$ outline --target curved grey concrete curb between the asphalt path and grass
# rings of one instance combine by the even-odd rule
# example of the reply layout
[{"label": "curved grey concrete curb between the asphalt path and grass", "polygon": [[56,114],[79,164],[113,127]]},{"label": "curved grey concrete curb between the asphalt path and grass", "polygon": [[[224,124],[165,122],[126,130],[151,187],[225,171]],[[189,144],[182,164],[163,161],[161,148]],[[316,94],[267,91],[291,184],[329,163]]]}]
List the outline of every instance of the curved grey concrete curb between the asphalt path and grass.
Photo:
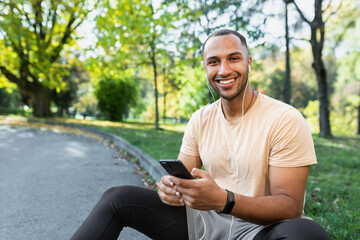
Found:
[{"label": "curved grey concrete curb between the asphalt path and grass", "polygon": [[122,139],[121,137],[108,133],[102,130],[93,129],[89,127],[83,127],[83,126],[76,126],[74,124],[68,124],[68,123],[59,123],[59,122],[48,122],[48,121],[37,121],[37,120],[28,120],[29,122],[38,122],[38,123],[44,123],[49,125],[60,125],[65,127],[71,127],[80,129],[83,131],[94,133],[100,137],[103,137],[109,141],[111,141],[112,144],[118,146],[119,148],[123,149],[125,152],[130,153],[132,156],[136,157],[139,160],[139,164],[141,167],[143,167],[149,175],[156,181],[160,181],[162,176],[166,175],[166,171],[161,167],[159,162],[149,156],[147,153],[143,152],[141,149],[131,145],[128,141],[125,139]]}]

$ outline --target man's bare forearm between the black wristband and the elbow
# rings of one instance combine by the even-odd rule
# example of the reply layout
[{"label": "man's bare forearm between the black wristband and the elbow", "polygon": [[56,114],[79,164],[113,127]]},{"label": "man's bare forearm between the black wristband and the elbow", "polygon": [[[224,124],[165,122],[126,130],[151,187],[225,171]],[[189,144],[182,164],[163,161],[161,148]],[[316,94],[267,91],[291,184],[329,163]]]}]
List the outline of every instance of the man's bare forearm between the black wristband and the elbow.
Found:
[{"label": "man's bare forearm between the black wristband and the elbow", "polygon": [[231,215],[259,225],[298,218],[301,214],[302,203],[286,195],[247,197],[235,194],[231,211]]}]

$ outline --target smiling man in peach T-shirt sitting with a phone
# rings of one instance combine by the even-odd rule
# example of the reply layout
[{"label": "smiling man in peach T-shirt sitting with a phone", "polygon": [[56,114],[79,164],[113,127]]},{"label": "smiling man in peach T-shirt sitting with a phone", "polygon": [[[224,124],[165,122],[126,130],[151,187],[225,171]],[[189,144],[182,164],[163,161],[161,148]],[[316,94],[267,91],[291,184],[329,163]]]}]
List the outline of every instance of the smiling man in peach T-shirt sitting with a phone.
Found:
[{"label": "smiling man in peach T-shirt sitting with a phone", "polygon": [[301,218],[311,133],[296,109],[250,87],[251,63],[239,33],[209,36],[203,64],[220,100],[193,114],[178,156],[197,179],[164,176],[158,194],[112,188],[73,239],[117,239],[124,226],[153,239],[329,239]]}]

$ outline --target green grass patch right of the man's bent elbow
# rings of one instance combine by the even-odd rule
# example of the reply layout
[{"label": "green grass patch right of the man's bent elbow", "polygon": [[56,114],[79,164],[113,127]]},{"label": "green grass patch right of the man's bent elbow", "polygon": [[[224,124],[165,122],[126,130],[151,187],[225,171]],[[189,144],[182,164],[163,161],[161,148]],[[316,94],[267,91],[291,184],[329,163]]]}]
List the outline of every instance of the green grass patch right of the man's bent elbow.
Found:
[{"label": "green grass patch right of the man's bent elbow", "polygon": [[314,141],[318,164],[310,170],[305,213],[331,239],[360,239],[360,138]]}]

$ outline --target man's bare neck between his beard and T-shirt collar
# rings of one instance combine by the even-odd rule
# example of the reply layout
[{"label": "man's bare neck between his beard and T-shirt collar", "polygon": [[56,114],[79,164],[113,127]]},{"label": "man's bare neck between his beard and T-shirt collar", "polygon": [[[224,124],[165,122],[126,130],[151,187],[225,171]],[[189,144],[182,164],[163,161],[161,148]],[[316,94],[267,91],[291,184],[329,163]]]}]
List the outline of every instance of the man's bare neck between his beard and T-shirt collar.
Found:
[{"label": "man's bare neck between his beard and T-shirt collar", "polygon": [[[248,86],[245,89],[245,91],[244,91],[245,94],[242,93],[238,97],[233,98],[231,100],[227,100],[224,98],[221,99],[222,111],[224,113],[225,119],[228,120],[229,122],[241,118],[254,105],[257,98],[256,92],[250,86]],[[244,95],[245,95],[245,100],[244,100]],[[243,106],[243,100],[244,100],[244,106]]]}]

